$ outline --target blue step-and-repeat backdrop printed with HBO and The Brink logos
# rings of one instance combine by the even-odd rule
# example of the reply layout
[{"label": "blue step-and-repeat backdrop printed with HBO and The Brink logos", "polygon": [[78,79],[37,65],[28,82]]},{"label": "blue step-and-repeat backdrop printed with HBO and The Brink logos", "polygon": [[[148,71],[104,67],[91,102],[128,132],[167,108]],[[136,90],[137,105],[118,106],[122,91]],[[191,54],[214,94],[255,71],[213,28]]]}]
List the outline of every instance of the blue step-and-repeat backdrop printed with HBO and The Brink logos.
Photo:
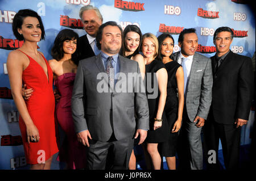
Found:
[{"label": "blue step-and-repeat backdrop printed with HBO and The Brink logos", "polygon": [[[79,36],[85,35],[79,18],[80,7],[93,5],[100,9],[104,22],[114,20],[122,28],[136,24],[142,33],[159,36],[170,33],[175,40],[184,28],[196,28],[199,37],[197,52],[211,57],[216,52],[214,31],[221,26],[233,29],[230,47],[234,53],[253,57],[255,53],[255,15],[249,0],[0,0],[0,169],[24,169],[22,138],[19,131],[19,113],[11,96],[7,56],[22,46],[13,35],[11,23],[20,9],[32,9],[42,17],[46,39],[38,43],[47,60],[52,59],[51,48],[57,33],[71,28]],[[255,55],[254,55],[255,66]],[[255,68],[254,68],[255,71]],[[250,129],[254,121],[254,108],[249,123],[242,128],[241,145],[250,144]]]}]

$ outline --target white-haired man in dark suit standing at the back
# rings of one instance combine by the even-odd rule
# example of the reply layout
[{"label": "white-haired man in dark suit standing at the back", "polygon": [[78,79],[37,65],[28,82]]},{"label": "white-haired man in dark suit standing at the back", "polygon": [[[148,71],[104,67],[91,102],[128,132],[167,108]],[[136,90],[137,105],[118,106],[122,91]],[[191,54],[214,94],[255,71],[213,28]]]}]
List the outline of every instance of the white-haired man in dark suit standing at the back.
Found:
[{"label": "white-haired man in dark suit standing at the back", "polygon": [[96,46],[96,35],[98,27],[101,26],[103,18],[100,10],[91,5],[82,6],[79,11],[81,22],[86,31],[86,35],[79,37],[77,41],[77,50],[79,60],[89,58],[100,53]]}]

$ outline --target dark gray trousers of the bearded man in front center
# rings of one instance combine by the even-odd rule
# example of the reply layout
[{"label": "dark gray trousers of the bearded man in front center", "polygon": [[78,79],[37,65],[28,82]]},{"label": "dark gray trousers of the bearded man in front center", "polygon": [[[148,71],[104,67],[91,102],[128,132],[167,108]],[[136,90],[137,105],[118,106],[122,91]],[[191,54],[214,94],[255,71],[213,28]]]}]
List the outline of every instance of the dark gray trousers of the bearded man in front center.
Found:
[{"label": "dark gray trousers of the bearded man in front center", "polygon": [[87,150],[87,169],[89,170],[127,170],[134,139],[115,140],[108,142],[89,140]]}]

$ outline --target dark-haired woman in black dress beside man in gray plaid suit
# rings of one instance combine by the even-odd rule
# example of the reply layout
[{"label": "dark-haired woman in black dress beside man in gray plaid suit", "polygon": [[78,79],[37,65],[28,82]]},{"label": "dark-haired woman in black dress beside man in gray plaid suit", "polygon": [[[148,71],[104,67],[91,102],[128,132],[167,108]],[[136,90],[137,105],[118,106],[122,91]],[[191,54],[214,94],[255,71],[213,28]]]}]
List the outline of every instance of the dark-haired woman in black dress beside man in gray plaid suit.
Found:
[{"label": "dark-haired woman in black dress beside man in gray plaid suit", "polygon": [[171,60],[174,48],[174,39],[163,33],[158,36],[159,59],[162,60],[168,72],[167,98],[164,111],[168,120],[168,141],[159,145],[160,153],[166,157],[168,169],[176,169],[176,146],[178,131],[181,127],[184,106],[184,73],[181,65]]}]

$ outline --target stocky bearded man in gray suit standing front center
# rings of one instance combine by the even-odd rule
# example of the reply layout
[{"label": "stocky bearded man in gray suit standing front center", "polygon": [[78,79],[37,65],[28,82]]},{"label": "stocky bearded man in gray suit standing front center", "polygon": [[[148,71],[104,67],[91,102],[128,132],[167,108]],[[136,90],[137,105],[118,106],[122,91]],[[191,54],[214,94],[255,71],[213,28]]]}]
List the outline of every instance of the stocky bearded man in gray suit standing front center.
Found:
[{"label": "stocky bearded man in gray suit standing front center", "polygon": [[[88,146],[88,169],[127,169],[133,137],[140,136],[142,144],[149,129],[139,66],[118,54],[121,37],[122,28],[117,23],[102,24],[96,36],[101,53],[81,60],[77,68],[72,116],[78,140]],[[131,73],[134,77],[129,79]]]}]

